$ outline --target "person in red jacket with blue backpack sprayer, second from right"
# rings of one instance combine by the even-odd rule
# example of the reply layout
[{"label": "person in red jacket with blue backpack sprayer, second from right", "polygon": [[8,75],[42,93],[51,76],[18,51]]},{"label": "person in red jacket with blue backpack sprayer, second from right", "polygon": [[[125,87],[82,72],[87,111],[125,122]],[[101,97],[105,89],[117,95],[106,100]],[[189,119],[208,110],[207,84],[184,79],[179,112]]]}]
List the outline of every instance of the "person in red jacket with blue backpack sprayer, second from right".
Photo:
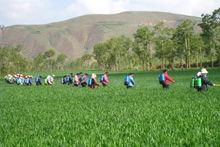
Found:
[{"label": "person in red jacket with blue backpack sprayer, second from right", "polygon": [[167,70],[164,69],[159,75],[159,83],[162,85],[163,89],[169,88],[169,81],[175,83],[175,81],[168,75]]}]

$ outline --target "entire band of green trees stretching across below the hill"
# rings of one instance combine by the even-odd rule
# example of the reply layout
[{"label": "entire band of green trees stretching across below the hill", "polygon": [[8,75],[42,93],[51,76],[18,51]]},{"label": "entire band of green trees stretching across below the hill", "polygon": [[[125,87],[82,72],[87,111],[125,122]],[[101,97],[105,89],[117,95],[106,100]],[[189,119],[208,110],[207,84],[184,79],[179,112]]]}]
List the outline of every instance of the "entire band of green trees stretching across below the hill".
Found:
[{"label": "entire band of green trees stretching across below the hill", "polygon": [[197,24],[186,19],[176,28],[163,22],[140,26],[133,37],[113,37],[94,46],[93,54],[66,60],[64,54],[49,49],[33,60],[25,58],[22,48],[1,47],[1,74],[25,70],[44,71],[64,68],[109,70],[191,68],[220,66],[220,8],[202,15]]}]

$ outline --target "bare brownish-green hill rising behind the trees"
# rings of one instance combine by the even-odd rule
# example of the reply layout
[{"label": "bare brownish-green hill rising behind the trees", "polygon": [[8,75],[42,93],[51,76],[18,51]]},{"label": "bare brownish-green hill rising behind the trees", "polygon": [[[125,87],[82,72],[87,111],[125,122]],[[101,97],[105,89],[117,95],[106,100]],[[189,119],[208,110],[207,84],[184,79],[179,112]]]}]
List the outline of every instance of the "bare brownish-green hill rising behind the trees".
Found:
[{"label": "bare brownish-green hill rising behind the trees", "polygon": [[[92,52],[93,45],[110,37],[132,36],[141,25],[152,26],[161,21],[176,27],[185,19],[200,18],[164,12],[123,12],[111,15],[85,15],[45,25],[15,25],[6,28],[0,42],[22,45],[23,53],[33,58],[49,48],[71,59]],[[3,40],[2,40],[3,38]]]}]

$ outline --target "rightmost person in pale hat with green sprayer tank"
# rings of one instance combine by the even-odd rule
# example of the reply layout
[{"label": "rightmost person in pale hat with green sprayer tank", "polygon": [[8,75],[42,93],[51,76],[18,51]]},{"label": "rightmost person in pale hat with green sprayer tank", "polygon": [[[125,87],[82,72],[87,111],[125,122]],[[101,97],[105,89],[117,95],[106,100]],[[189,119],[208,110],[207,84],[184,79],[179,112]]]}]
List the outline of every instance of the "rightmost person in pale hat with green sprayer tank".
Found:
[{"label": "rightmost person in pale hat with green sprayer tank", "polygon": [[214,83],[209,81],[207,77],[208,71],[205,68],[202,68],[200,72],[196,74],[197,83],[196,87],[198,91],[205,91],[208,90],[209,86],[215,86]]}]

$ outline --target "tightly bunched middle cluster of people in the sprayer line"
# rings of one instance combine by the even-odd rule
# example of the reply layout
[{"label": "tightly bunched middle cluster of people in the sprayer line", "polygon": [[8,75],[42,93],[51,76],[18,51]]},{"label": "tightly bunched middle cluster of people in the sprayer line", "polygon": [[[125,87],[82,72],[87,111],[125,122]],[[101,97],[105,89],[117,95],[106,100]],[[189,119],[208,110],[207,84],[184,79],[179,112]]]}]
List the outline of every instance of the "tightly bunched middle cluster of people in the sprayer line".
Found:
[{"label": "tightly bunched middle cluster of people in the sprayer line", "polygon": [[[100,83],[105,87],[108,85],[108,72],[104,72],[104,74],[100,75]],[[62,78],[62,84],[73,84],[76,87],[90,87],[92,89],[99,86],[99,83],[96,80],[96,74],[93,73],[89,75],[88,73],[83,74],[82,72],[73,75],[70,73],[69,75],[65,75]]]}]

